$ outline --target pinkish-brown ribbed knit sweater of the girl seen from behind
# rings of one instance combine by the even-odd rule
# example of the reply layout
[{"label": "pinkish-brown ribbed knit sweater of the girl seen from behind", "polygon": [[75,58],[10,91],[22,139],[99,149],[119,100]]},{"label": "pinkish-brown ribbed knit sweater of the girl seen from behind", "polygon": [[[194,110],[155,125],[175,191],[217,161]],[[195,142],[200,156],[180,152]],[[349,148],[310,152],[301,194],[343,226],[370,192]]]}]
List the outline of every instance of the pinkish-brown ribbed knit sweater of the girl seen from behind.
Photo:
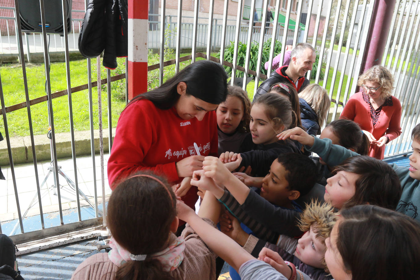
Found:
[{"label": "pinkish-brown ribbed knit sweater of the girl seen from behind", "polygon": [[[207,223],[215,227],[210,219],[203,218]],[[182,231],[185,239],[184,260],[171,271],[174,279],[209,279],[216,277],[216,255],[207,248],[204,241],[187,224]],[[113,280],[118,266],[108,259],[107,253],[99,253],[85,259],[76,271],[71,280]]]}]

